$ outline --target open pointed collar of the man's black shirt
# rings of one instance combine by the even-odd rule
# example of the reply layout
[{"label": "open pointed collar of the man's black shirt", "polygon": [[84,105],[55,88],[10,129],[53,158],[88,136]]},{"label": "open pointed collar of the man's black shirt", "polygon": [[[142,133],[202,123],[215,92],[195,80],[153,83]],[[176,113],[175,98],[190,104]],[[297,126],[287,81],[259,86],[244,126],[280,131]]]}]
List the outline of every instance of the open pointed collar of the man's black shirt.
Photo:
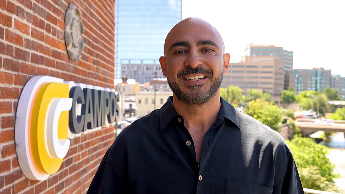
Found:
[{"label": "open pointed collar of the man's black shirt", "polygon": [[[168,123],[173,118],[179,116],[174,109],[174,106],[172,106],[172,102],[173,98],[172,96],[169,96],[166,103],[159,109],[159,125],[161,132],[166,128]],[[220,97],[220,110],[215,124],[219,125],[224,121],[224,118],[233,122],[237,126],[237,128],[240,129],[237,113],[234,106]]]}]

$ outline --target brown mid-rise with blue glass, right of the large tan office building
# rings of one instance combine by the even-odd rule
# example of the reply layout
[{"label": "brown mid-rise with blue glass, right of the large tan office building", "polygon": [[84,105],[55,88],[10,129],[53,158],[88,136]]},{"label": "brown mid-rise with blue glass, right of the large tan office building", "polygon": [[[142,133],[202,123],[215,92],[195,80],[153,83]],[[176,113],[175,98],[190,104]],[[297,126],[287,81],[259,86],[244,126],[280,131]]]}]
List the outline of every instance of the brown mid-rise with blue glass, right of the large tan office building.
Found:
[{"label": "brown mid-rise with blue glass, right of the large tan office building", "polygon": [[331,69],[292,69],[290,87],[298,94],[303,90],[323,91],[331,87]]}]

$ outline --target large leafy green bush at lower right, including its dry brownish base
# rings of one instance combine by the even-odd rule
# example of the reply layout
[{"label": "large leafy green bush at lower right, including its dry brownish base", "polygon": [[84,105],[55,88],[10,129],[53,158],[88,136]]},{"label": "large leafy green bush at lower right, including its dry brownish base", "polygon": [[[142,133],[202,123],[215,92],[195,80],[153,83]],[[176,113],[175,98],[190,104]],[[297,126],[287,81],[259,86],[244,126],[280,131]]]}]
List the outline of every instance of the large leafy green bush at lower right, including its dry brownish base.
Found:
[{"label": "large leafy green bush at lower right, including its dry brownish base", "polygon": [[338,192],[334,180],[339,175],[333,173],[334,164],[327,158],[328,148],[311,138],[295,135],[289,145],[303,187],[322,191]]}]

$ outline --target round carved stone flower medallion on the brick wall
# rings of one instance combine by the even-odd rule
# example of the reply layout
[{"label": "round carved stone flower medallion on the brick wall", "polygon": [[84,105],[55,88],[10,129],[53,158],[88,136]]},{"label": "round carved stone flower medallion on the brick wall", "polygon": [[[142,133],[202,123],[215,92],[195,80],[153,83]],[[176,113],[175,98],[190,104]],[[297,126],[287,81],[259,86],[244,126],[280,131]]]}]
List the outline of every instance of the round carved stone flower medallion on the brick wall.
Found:
[{"label": "round carved stone flower medallion on the brick wall", "polygon": [[80,52],[84,49],[81,36],[83,32],[84,25],[80,21],[80,10],[71,3],[65,16],[65,43],[68,56],[73,61],[80,58]]}]

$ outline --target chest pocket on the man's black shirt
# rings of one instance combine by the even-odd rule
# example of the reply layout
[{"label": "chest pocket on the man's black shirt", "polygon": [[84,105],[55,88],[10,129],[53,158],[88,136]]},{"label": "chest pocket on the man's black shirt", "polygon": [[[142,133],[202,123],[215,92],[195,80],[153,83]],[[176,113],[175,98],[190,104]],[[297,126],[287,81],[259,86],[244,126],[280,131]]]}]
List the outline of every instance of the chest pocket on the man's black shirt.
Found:
[{"label": "chest pocket on the man's black shirt", "polygon": [[273,187],[226,179],[226,194],[272,194]]}]

